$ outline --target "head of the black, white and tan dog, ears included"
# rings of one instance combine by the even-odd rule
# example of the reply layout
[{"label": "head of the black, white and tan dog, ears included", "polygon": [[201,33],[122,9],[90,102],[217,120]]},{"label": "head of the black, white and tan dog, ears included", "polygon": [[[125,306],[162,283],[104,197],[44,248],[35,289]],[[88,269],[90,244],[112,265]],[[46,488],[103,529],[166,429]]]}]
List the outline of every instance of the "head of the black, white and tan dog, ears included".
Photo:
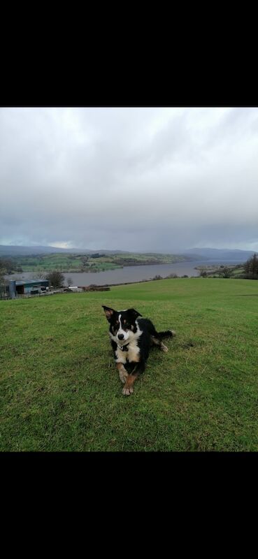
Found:
[{"label": "head of the black, white and tan dog, ears included", "polygon": [[138,331],[137,317],[142,315],[135,309],[114,310],[102,305],[110,324],[109,333],[112,340],[122,346],[133,340]]}]

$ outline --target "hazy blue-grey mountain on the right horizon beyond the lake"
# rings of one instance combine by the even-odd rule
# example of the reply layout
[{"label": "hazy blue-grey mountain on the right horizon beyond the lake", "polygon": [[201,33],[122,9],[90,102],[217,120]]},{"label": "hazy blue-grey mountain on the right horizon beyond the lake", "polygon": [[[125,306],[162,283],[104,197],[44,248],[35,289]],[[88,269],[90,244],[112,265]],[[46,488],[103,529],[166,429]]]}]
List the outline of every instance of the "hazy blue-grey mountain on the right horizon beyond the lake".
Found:
[{"label": "hazy blue-grey mountain on the right horizon beyond the lake", "polygon": [[220,260],[220,261],[247,261],[250,256],[254,254],[253,250],[240,250],[240,249],[210,249],[210,248],[193,248],[187,249],[182,254],[185,256],[192,256],[196,260]]}]

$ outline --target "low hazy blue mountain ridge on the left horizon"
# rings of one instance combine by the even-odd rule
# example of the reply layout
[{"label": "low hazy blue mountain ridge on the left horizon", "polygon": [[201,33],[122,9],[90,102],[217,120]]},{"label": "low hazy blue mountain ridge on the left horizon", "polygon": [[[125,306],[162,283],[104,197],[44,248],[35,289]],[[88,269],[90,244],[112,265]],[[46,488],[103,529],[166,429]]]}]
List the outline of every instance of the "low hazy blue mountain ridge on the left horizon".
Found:
[{"label": "low hazy blue mountain ridge on the left horizon", "polygon": [[66,252],[72,254],[120,254],[127,253],[126,250],[89,250],[89,249],[62,249],[59,247],[21,247],[20,245],[0,245],[0,256],[30,256],[31,254],[50,254]]}]

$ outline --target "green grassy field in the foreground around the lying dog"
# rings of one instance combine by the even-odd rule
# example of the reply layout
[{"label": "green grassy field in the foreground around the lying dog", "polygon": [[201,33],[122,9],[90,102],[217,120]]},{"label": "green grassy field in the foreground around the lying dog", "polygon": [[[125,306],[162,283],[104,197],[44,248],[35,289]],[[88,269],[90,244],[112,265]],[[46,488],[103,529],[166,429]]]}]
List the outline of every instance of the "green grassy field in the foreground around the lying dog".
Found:
[{"label": "green grassy field in the foreground around the lying dog", "polygon": [[[102,304],[177,333],[129,397]],[[240,279],[0,301],[0,449],[258,451],[257,326],[258,282]]]}]

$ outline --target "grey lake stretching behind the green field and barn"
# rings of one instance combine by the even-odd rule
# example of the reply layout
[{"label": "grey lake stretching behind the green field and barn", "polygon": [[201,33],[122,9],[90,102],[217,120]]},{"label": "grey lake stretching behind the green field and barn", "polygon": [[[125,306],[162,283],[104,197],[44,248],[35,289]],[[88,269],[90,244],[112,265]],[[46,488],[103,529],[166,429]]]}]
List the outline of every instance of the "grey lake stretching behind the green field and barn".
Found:
[{"label": "grey lake stretching behind the green field and barn", "polygon": [[[228,264],[240,264],[241,260],[234,260]],[[90,284],[123,284],[141,282],[143,279],[152,279],[155,275],[166,277],[169,274],[177,274],[178,276],[199,276],[199,271],[195,270],[196,266],[227,266],[227,262],[219,260],[200,260],[194,262],[178,262],[173,264],[153,264],[150,266],[126,266],[117,268],[116,270],[108,270],[106,272],[96,273],[67,273],[64,277],[73,279],[73,286],[87,286]],[[8,275],[8,279],[33,279],[36,272],[23,272],[21,274]]]}]

